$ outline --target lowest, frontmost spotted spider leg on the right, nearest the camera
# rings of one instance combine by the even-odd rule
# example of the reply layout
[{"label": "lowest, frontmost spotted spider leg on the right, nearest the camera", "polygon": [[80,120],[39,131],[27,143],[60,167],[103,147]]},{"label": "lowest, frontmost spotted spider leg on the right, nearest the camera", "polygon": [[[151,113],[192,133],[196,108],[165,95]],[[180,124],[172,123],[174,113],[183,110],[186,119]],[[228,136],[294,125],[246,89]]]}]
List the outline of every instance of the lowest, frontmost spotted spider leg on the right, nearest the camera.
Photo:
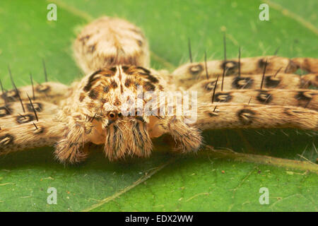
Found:
[{"label": "lowest, frontmost spotted spider leg on the right, nearest the camera", "polygon": [[199,129],[295,128],[318,130],[318,112],[302,107],[215,103],[198,107]]}]

